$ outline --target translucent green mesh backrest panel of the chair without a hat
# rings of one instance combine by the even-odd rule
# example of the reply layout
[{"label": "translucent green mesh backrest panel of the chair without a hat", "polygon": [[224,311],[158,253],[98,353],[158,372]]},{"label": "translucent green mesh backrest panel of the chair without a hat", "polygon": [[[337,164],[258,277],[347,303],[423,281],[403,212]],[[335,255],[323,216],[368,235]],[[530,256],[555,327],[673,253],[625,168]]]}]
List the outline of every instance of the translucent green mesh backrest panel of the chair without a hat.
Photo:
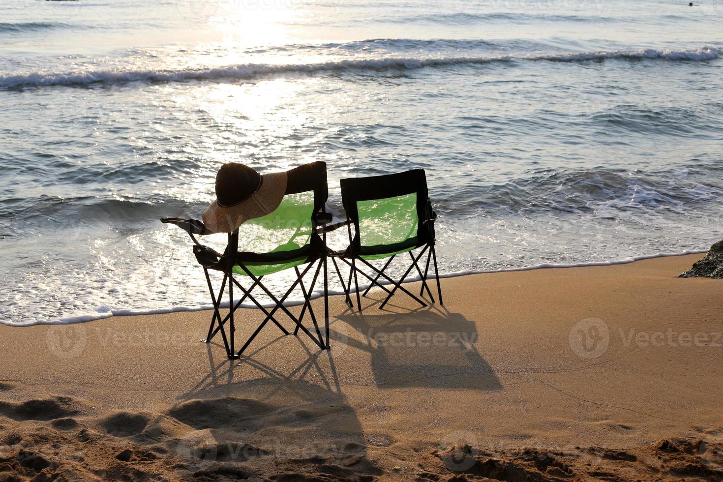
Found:
[{"label": "translucent green mesh backrest panel of the chair without a hat", "polygon": [[414,238],[419,225],[416,192],[356,202],[361,246],[396,244]]}]

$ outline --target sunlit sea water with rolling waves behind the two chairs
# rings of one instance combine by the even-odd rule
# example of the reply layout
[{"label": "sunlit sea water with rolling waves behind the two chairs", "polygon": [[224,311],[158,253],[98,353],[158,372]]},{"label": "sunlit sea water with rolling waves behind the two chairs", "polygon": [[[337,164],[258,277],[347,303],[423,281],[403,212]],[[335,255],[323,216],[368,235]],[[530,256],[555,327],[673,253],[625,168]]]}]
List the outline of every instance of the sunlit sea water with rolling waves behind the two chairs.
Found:
[{"label": "sunlit sea water with rolling waves behind the two chairs", "polygon": [[210,306],[158,219],[227,162],[325,161],[337,218],[340,178],[424,168],[443,274],[706,249],[723,2],[694,3],[3,1],[0,322]]}]

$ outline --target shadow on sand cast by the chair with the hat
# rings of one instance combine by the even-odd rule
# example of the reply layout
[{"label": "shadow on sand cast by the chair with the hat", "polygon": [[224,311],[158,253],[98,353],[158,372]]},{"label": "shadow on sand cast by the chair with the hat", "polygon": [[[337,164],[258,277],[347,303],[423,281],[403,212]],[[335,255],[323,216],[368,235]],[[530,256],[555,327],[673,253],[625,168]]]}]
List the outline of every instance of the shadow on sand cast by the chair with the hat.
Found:
[{"label": "shadow on sand cast by the chair with the hat", "polygon": [[276,360],[282,372],[262,361],[269,353],[265,348],[282,338],[240,361],[227,360],[225,354],[216,361],[213,348],[223,346],[208,345],[209,373],[169,411],[205,434],[202,445],[183,442],[193,454],[187,458],[192,464],[246,462],[279,476],[287,471],[301,477],[299,470],[312,478],[319,471],[350,479],[379,475],[381,470],[367,460],[361,422],[341,392],[330,350],[299,341],[306,358],[301,363]]}]

